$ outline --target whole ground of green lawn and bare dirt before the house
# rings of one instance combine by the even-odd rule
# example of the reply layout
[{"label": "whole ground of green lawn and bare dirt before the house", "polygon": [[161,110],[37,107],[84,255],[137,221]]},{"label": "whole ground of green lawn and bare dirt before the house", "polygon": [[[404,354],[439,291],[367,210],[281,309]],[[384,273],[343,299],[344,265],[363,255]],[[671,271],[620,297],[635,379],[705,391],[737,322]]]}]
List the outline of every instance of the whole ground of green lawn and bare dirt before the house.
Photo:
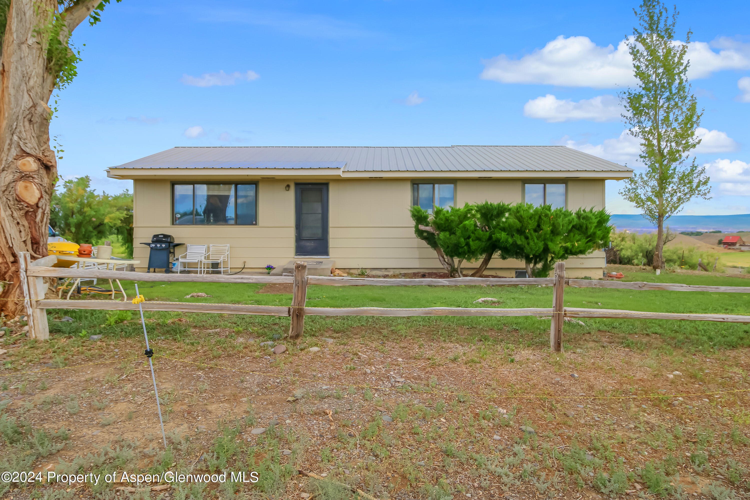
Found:
[{"label": "whole ground of green lawn and bare dirt before the house", "polygon": [[[628,271],[626,279],[656,277]],[[688,274],[658,281],[748,283]],[[261,285],[139,288],[149,301],[291,301]],[[184,298],[191,292],[212,297]],[[493,297],[499,307],[549,307],[551,292],[311,286],[308,304],[473,307],[477,298]],[[746,294],[706,292],[568,288],[565,303],[750,310]],[[565,352],[550,354],[549,319],[308,316],[296,346],[284,342],[288,318],[146,313],[164,450],[136,313],[48,313],[49,342],[24,338],[17,321],[6,322],[0,337],[7,349],[0,355],[0,472],[255,471],[259,481],[159,491],[127,483],[0,483],[4,499],[363,498],[350,488],[379,500],[718,500],[750,493],[747,325],[585,319],[583,326],[565,323]],[[92,334],[103,337],[92,341]],[[285,343],[287,352],[275,355],[263,340]]]}]

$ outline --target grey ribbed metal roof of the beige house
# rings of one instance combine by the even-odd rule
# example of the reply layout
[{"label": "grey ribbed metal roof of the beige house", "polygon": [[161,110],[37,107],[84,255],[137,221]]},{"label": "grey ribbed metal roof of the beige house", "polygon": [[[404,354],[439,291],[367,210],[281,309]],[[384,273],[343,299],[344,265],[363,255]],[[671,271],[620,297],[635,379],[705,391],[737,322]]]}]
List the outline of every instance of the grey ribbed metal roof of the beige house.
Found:
[{"label": "grey ribbed metal roof of the beige house", "polygon": [[345,172],[623,172],[567,146],[178,147],[115,169],[343,169]]}]

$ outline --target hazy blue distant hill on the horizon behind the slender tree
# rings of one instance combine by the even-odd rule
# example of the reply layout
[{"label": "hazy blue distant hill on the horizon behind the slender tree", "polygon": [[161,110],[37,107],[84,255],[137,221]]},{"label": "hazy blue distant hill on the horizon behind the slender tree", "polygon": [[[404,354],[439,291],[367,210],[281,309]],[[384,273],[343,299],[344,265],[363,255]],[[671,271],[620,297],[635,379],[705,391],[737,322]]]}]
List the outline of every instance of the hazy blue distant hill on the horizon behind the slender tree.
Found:
[{"label": "hazy blue distant hill on the horizon behind the slender tree", "polygon": [[[610,222],[618,231],[652,232],[656,226],[641,215],[613,214]],[[750,231],[750,214],[673,215],[664,222],[673,232],[680,231]]]}]

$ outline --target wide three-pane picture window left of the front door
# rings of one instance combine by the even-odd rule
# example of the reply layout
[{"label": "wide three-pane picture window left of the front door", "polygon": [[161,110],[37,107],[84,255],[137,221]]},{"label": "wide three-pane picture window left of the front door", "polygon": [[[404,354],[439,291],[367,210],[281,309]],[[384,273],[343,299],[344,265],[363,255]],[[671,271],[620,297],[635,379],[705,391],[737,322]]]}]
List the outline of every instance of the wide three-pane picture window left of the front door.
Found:
[{"label": "wide three-pane picture window left of the front door", "polygon": [[255,226],[256,184],[173,184],[172,223]]}]

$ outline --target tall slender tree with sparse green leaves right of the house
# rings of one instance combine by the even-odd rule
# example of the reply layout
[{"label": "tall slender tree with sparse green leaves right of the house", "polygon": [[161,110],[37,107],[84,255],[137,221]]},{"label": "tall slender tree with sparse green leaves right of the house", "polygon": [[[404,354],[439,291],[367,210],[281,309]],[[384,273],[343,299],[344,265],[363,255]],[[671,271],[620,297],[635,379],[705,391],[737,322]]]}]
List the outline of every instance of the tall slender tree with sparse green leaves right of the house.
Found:
[{"label": "tall slender tree with sparse green leaves right of the house", "polygon": [[695,129],[703,112],[691,94],[685,60],[691,32],[685,42],[675,39],[678,12],[669,15],[661,0],[643,0],[634,10],[639,27],[628,41],[637,87],[620,97],[628,132],[640,139],[645,172],[635,173],[620,190],[651,220],[657,230],[654,268],[664,268],[664,220],[678,213],[694,197],[709,199],[706,169],[688,153],[700,144]]}]

